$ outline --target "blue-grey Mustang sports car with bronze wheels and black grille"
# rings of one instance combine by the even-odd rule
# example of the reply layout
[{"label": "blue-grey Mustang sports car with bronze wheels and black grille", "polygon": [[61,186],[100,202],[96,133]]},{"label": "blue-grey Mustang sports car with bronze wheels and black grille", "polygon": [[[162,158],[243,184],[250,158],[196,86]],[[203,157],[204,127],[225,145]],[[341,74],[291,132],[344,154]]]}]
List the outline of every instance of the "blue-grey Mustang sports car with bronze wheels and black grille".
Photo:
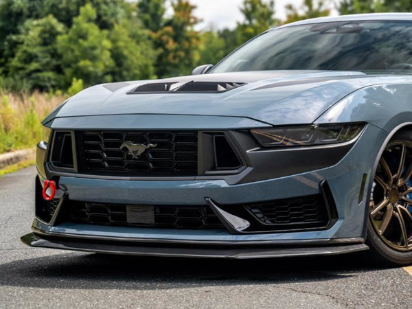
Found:
[{"label": "blue-grey Mustang sports car with bronze wheels and black grille", "polygon": [[412,14],[271,29],[44,121],[32,247],[412,262]]}]

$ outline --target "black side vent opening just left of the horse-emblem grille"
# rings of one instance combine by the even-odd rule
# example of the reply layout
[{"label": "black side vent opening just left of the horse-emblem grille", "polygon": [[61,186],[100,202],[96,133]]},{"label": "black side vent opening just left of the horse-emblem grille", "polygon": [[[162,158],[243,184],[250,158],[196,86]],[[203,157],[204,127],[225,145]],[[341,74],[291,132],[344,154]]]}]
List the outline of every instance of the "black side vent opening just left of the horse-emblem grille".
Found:
[{"label": "black side vent opening just left of the horse-emblem grille", "polygon": [[73,170],[73,139],[71,132],[57,131],[54,133],[50,161],[56,168],[67,168]]}]

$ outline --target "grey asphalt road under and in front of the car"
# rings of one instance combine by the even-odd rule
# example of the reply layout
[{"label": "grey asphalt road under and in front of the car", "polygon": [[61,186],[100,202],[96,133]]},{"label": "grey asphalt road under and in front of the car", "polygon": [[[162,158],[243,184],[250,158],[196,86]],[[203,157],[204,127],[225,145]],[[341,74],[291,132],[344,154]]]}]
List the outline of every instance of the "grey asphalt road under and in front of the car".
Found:
[{"label": "grey asphalt road under and in front of the car", "polygon": [[0,308],[412,308],[412,268],[359,255],[282,260],[134,258],[19,241],[34,168],[0,179]]}]

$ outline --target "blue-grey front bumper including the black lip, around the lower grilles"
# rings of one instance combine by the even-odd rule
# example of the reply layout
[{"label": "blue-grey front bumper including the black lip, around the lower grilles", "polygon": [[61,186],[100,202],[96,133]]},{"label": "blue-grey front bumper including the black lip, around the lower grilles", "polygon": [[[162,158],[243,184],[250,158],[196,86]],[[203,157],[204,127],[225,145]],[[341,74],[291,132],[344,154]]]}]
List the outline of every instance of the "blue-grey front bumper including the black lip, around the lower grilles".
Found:
[{"label": "blue-grey front bumper including the black lip, around the lower grilles", "polygon": [[[339,163],[272,179],[249,179],[246,183],[233,184],[218,177],[159,181],[95,179],[65,174],[59,176],[60,189],[56,194],[58,198],[67,195],[74,201],[93,203],[203,206],[205,198],[211,198],[218,205],[227,205],[321,194],[320,184],[326,181],[337,212],[336,221],[327,229],[236,234],[226,229],[152,229],[71,222],[50,224],[36,218],[34,234],[23,236],[22,240],[32,247],[216,258],[325,255],[364,250],[367,249],[363,244],[367,188],[371,185],[374,161],[386,135],[374,126],[367,126]],[[305,153],[301,155],[305,156]],[[38,170],[39,177],[47,176],[42,166]],[[362,181],[366,182],[364,186]],[[365,189],[361,190],[361,187]]]}]

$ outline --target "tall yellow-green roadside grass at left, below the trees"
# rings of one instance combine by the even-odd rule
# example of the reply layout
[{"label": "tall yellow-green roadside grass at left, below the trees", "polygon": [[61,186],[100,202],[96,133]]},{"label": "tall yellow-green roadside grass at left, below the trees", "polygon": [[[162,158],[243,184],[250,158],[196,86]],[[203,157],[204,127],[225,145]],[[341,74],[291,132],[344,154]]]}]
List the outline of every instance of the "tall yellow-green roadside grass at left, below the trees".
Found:
[{"label": "tall yellow-green roadside grass at left, below the trees", "polygon": [[36,146],[43,139],[41,121],[65,98],[61,94],[0,90],[0,154]]}]

